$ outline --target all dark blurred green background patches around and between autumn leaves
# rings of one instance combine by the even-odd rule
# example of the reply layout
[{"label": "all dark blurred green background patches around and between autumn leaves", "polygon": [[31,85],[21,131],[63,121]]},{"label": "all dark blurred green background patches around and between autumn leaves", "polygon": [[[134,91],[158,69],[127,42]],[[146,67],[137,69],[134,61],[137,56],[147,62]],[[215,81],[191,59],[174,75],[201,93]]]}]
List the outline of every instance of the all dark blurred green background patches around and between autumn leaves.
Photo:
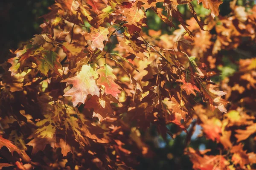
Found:
[{"label": "all dark blurred green background patches around and between autumn leaves", "polygon": [[[53,3],[54,0],[0,0],[0,63],[9,58],[9,49],[15,51],[15,49],[21,46],[22,42],[31,39],[34,34],[41,32],[39,26],[43,23],[43,19],[40,18],[40,16],[46,14],[48,12],[47,7]],[[253,6],[254,3],[255,1],[253,0],[237,0],[237,4],[240,6]],[[199,14],[202,19],[210,13],[209,10],[203,8],[201,5],[198,6],[197,1],[192,1],[192,4],[195,7],[196,13]],[[188,6],[180,5],[178,8],[184,15],[184,19],[192,17]],[[230,14],[230,11],[230,0],[224,0],[223,4],[220,6],[220,16],[227,16]],[[143,31],[148,33],[149,29],[153,29],[155,31],[161,30],[161,34],[172,34],[175,30],[175,28],[169,28],[166,23],[163,23],[151,9],[149,9],[146,14],[148,28],[143,28]],[[176,28],[178,28],[179,23],[175,20],[173,22]],[[256,49],[255,47],[251,48]],[[234,64],[234,61],[253,56],[250,52],[241,51],[239,49],[223,51],[223,53],[226,53],[227,57],[222,58],[223,65],[218,66],[221,75],[213,79],[215,82],[232,75],[238,70],[238,66]],[[229,56],[232,56],[232,59],[230,59]],[[175,125],[169,125],[168,128],[170,131],[175,131],[176,127]],[[199,125],[196,125],[195,129],[189,146],[200,150],[211,148],[212,153],[219,154],[218,144],[206,139],[205,136],[200,136],[201,127]],[[188,156],[183,155],[183,148],[186,147],[184,146],[187,136],[186,133],[181,133],[179,136],[176,136],[175,139],[172,139],[171,136],[167,136],[166,139],[163,139],[162,136],[157,134],[157,129],[152,126],[148,131],[141,132],[141,134],[144,136],[147,143],[151,145],[156,155],[154,162],[145,158],[138,158],[141,162],[141,164],[138,165],[138,169],[164,170],[170,167],[183,170],[192,169],[192,163],[189,161]],[[198,135],[200,137],[198,137]]]}]

